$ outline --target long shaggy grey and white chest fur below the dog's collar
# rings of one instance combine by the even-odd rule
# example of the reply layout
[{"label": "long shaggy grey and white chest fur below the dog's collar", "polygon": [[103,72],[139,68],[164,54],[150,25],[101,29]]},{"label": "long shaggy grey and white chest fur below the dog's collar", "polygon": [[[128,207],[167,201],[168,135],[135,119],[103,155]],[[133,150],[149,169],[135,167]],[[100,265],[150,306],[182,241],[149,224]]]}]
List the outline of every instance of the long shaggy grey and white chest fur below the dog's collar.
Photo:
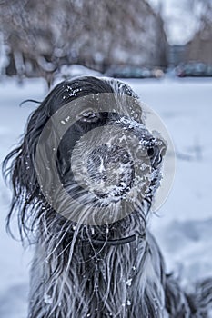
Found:
[{"label": "long shaggy grey and white chest fur below the dog's collar", "polygon": [[[38,245],[32,284],[35,290],[35,281],[43,280],[37,285],[43,303],[37,313],[45,310],[47,314],[55,307],[58,317],[66,317],[67,313],[70,317],[94,318],[130,318],[140,313],[142,317],[166,317],[164,263],[148,232],[146,239],[118,246],[78,243],[74,251],[66,250],[66,256],[64,253],[42,263],[44,253],[46,247]],[[56,273],[63,261],[63,271],[52,276],[49,262]]]}]

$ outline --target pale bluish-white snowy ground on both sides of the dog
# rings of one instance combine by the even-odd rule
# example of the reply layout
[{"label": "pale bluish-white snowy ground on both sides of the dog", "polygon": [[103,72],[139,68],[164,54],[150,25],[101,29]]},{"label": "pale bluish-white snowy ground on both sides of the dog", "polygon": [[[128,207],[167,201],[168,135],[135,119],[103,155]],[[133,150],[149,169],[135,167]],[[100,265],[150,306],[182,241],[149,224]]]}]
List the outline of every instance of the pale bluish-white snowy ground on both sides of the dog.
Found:
[{"label": "pale bluish-white snowy ground on both sides of the dog", "polygon": [[[177,153],[175,183],[167,202],[154,216],[151,228],[166,257],[167,269],[183,282],[212,275],[212,81],[127,81],[141,99],[160,114]],[[18,104],[27,98],[42,100],[42,80],[18,86],[0,83],[0,161],[17,143],[34,104]],[[0,317],[24,318],[28,272],[32,253],[5,233],[10,193],[0,179]]]}]

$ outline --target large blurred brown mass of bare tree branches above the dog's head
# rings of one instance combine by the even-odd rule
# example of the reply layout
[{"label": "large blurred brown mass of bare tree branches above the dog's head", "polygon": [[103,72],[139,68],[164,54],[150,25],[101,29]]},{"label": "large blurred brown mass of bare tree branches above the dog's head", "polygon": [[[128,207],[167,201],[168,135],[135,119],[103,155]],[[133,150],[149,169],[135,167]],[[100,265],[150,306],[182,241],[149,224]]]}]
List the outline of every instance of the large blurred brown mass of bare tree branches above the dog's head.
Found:
[{"label": "large blurred brown mass of bare tree branches above the dog's head", "polygon": [[2,1],[0,30],[10,47],[9,75],[48,81],[64,64],[166,65],[163,22],[146,0]]}]

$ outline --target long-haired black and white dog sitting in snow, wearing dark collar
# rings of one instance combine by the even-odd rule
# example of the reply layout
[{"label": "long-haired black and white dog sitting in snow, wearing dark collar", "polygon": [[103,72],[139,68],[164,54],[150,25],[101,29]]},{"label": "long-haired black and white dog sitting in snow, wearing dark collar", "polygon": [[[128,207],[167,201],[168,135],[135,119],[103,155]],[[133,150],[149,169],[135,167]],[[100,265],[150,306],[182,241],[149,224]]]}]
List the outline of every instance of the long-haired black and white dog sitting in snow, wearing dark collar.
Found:
[{"label": "long-haired black and white dog sitting in snow, wearing dark collar", "polygon": [[115,79],[57,84],[7,155],[13,214],[35,243],[30,318],[207,317],[211,280],[185,293],[147,229],[167,144]]}]

